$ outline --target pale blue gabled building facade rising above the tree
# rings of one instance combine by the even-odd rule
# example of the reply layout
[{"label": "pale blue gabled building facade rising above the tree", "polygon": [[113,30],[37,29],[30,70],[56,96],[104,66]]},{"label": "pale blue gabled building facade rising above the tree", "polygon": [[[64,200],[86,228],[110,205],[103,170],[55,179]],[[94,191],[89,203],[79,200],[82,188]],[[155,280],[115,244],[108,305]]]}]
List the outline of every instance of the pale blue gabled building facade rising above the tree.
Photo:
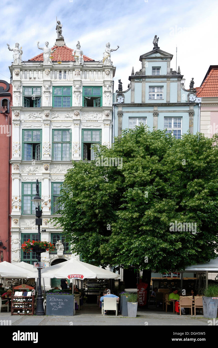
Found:
[{"label": "pale blue gabled building facade rising above the tree", "polygon": [[[122,129],[134,128],[140,123],[150,130],[166,129],[180,139],[188,130],[196,133],[200,129],[200,112],[193,84],[184,87],[183,75],[170,68],[173,55],[154,48],[140,56],[140,71],[129,76],[128,89],[122,85],[113,95],[113,141]],[[190,99],[189,99],[190,97]],[[192,102],[191,102],[192,100]]]}]

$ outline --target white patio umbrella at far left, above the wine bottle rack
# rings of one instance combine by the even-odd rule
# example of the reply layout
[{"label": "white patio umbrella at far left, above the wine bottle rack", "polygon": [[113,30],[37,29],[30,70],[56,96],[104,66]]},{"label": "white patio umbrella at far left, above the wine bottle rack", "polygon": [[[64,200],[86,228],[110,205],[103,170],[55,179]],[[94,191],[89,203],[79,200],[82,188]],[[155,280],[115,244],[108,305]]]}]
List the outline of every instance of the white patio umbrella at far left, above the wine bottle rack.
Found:
[{"label": "white patio umbrella at far left, above the wine bottle rack", "polygon": [[19,267],[15,263],[3,261],[0,263],[0,275],[4,278],[37,278],[38,272]]}]

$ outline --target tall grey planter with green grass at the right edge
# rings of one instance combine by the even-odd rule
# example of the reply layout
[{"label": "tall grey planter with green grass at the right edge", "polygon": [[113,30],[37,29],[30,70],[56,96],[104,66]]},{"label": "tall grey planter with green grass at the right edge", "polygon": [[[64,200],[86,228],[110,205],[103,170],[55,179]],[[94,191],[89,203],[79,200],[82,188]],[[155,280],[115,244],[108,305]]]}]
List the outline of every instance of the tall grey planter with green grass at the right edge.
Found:
[{"label": "tall grey planter with green grass at the right edge", "polygon": [[207,289],[202,289],[202,293],[204,318],[216,318],[218,299],[213,297],[218,298],[218,285],[209,284]]}]

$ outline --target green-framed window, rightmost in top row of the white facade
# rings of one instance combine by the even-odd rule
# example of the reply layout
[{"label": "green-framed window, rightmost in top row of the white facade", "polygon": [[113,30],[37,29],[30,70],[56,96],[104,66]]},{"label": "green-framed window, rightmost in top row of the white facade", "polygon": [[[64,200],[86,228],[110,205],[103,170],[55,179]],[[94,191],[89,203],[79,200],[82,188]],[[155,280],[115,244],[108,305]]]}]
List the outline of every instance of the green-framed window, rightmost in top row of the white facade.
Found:
[{"label": "green-framed window, rightmost in top row of the white facade", "polygon": [[102,87],[84,86],[83,87],[83,107],[101,108],[102,106]]}]

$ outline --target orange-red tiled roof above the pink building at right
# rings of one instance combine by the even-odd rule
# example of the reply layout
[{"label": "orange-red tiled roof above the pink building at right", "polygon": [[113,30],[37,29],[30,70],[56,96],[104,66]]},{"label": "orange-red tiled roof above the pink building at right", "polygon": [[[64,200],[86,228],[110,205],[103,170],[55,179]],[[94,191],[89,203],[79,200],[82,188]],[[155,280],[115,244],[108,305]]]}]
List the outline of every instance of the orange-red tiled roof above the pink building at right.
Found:
[{"label": "orange-red tiled roof above the pink building at right", "polygon": [[200,87],[198,97],[218,97],[218,65],[211,65]]}]

